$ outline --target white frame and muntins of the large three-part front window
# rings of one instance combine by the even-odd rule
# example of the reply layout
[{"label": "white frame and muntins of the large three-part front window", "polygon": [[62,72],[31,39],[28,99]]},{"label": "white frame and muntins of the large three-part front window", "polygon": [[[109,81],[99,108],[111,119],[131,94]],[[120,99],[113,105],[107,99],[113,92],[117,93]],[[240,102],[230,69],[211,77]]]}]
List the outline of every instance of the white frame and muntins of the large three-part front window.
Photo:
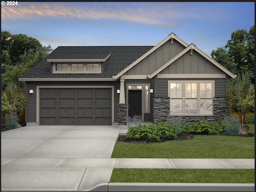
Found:
[{"label": "white frame and muntins of the large three-part front window", "polygon": [[[170,99],[170,84],[171,83],[182,83],[182,114],[171,114],[170,106],[170,116],[213,116],[213,98],[215,97],[215,82],[214,80],[168,80],[168,97]],[[200,98],[200,83],[212,83],[212,113],[211,114],[200,114],[200,107],[197,107],[197,114],[185,114],[186,108],[186,96],[185,96],[185,83],[197,83],[197,106],[200,106],[201,99],[210,99],[210,98]],[[193,99],[193,98],[191,98]]]}]

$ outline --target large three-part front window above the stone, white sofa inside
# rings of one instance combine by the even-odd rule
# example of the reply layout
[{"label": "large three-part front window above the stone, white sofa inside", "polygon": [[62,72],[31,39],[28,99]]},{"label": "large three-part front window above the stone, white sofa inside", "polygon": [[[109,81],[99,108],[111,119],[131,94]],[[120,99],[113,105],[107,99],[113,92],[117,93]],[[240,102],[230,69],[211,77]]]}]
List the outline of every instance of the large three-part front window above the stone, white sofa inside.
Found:
[{"label": "large three-part front window above the stone, white sofa inside", "polygon": [[168,81],[170,114],[212,115],[214,81]]}]

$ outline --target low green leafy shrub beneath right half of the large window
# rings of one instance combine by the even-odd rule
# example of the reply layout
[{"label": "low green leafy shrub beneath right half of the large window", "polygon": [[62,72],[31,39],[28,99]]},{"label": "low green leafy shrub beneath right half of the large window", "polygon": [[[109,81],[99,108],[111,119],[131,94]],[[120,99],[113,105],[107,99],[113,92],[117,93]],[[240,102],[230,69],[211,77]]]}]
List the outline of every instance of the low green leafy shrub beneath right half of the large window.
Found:
[{"label": "low green leafy shrub beneath right half of the large window", "polygon": [[219,125],[208,121],[198,121],[189,127],[191,133],[202,133],[206,135],[219,135]]}]

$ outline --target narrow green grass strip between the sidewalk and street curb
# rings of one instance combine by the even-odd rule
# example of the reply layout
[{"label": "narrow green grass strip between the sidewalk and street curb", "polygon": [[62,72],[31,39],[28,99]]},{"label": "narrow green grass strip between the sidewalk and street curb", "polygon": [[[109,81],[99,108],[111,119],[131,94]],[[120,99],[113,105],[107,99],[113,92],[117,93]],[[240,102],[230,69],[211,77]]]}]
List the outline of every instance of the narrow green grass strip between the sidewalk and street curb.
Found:
[{"label": "narrow green grass strip between the sidewalk and street curb", "polygon": [[254,183],[254,169],[114,168],[110,182]]}]

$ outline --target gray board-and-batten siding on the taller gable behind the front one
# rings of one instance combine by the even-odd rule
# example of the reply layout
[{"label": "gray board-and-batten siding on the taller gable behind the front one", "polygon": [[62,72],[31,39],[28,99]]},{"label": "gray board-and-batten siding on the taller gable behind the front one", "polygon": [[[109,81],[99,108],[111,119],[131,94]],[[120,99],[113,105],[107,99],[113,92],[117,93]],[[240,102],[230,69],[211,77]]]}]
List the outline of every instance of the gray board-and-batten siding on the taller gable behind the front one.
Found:
[{"label": "gray board-and-batten siding on the taller gable behind the front one", "polygon": [[125,72],[124,75],[152,74],[185,48],[186,47],[184,45],[175,39],[173,40],[173,44],[171,44],[171,40],[166,41],[158,49],[153,51],[150,55],[142,59],[142,61],[137,63],[134,67]]}]

